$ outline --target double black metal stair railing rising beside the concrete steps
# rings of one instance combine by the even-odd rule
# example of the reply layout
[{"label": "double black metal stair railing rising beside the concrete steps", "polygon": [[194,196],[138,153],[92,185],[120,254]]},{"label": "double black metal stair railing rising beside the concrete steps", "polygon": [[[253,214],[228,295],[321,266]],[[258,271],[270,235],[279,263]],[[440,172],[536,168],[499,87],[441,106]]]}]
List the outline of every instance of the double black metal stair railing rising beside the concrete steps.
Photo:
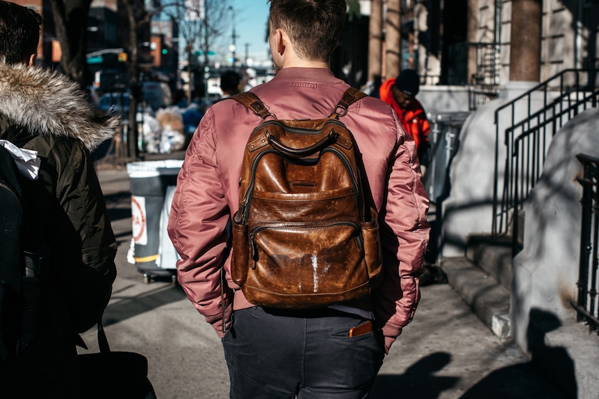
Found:
[{"label": "double black metal stair railing rising beside the concrete steps", "polygon": [[[565,69],[495,110],[492,229],[493,235],[512,234],[514,255],[522,246],[518,240],[518,212],[523,210],[523,204],[541,177],[553,136],[579,112],[598,106],[597,72]],[[500,124],[502,111],[509,112],[507,122],[503,124],[507,128],[503,132]],[[506,150],[502,187],[499,176],[500,139],[503,139]]]}]

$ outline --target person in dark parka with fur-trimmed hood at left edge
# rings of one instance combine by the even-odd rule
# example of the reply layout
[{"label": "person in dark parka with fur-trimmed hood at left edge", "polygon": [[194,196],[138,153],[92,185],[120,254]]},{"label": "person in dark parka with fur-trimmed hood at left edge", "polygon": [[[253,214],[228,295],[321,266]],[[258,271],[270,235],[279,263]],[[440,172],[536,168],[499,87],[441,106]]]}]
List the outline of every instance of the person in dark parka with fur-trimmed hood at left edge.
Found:
[{"label": "person in dark parka with fur-trimmed hood at left edge", "polygon": [[0,139],[38,152],[38,178],[22,183],[30,202],[22,241],[49,248],[50,259],[39,276],[34,339],[0,360],[2,398],[79,398],[78,333],[97,323],[116,277],[90,151],[119,121],[99,114],[67,77],[34,65],[42,23],[35,11],[0,1]]}]

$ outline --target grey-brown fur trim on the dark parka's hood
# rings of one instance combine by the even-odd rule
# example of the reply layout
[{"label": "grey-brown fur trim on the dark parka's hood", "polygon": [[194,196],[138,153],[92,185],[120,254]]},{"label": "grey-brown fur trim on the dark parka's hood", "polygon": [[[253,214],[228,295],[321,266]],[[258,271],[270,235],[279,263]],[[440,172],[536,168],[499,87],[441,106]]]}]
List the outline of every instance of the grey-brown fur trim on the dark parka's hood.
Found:
[{"label": "grey-brown fur trim on the dark parka's hood", "polygon": [[120,123],[89,103],[67,76],[1,61],[0,113],[32,134],[74,137],[90,151],[113,137]]}]

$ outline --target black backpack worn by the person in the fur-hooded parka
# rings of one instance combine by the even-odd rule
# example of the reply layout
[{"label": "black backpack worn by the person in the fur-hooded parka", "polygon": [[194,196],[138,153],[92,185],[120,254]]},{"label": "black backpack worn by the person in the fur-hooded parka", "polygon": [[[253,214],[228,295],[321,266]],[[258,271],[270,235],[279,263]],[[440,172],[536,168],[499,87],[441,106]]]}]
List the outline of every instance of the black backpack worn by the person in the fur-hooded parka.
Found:
[{"label": "black backpack worn by the person in the fur-hooded parka", "polygon": [[44,300],[50,251],[43,244],[35,199],[25,195],[31,184],[0,144],[0,360],[33,343]]}]

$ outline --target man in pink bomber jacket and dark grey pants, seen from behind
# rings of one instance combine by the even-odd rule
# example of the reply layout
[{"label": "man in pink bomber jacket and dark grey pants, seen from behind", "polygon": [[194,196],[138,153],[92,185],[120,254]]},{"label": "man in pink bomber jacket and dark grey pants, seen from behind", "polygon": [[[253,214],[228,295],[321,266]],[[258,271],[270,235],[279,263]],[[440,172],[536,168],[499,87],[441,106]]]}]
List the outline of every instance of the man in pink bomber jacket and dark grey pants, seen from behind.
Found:
[{"label": "man in pink bomber jacket and dark grey pants, seen from behind", "polygon": [[[252,92],[279,119],[328,117],[347,89],[329,69],[345,12],[345,0],[270,0],[269,42],[277,76]],[[366,398],[384,354],[420,299],[429,225],[416,147],[382,101],[366,97],[349,107],[342,121],[363,155],[380,215],[383,281],[365,308],[265,309],[248,303],[232,282],[227,252],[243,151],[260,121],[229,100],[213,105],[199,124],[168,225],[181,255],[179,282],[222,338],[231,398]],[[370,325],[372,318],[375,331],[365,328],[349,337],[350,328]]]}]

